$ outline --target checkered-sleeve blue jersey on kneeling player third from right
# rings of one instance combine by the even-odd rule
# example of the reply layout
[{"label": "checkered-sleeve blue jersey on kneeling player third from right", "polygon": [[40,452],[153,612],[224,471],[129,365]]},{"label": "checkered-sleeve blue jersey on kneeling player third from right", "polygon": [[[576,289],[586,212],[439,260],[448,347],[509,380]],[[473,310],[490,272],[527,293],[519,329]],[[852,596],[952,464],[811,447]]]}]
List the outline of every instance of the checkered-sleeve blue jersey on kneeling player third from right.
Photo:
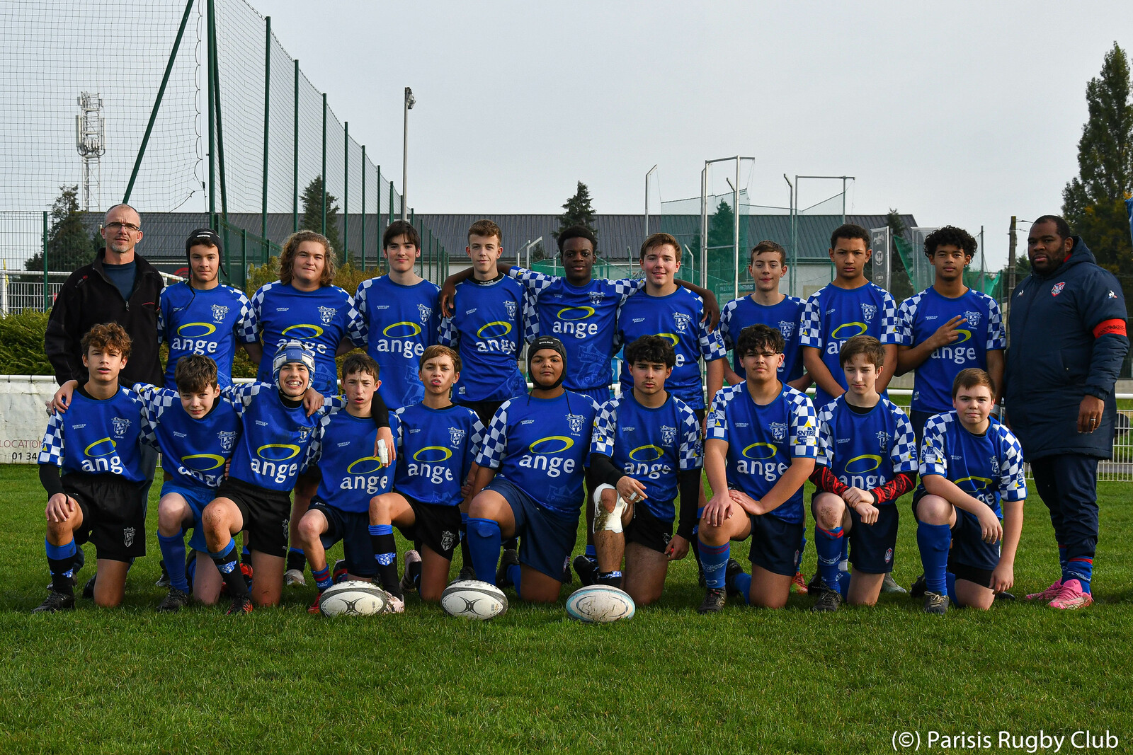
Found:
[{"label": "checkered-sleeve blue jersey on kneeling player third from right", "polygon": [[[759,405],[741,383],[716,394],[707,439],[727,443],[727,487],[759,500],[792,460],[818,457],[818,418],[807,394],[789,385],[775,401]],[[802,486],[768,514],[791,524],[803,522]]]}]

